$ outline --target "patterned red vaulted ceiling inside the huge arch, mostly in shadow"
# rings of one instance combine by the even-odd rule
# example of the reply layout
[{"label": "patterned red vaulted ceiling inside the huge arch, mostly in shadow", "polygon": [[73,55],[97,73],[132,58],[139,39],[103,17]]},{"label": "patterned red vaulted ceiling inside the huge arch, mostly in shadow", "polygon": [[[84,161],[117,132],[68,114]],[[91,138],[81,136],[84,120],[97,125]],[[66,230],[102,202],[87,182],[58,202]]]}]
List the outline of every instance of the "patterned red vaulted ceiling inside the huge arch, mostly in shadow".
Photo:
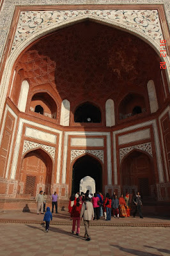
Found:
[{"label": "patterned red vaulted ceiling inside the huge arch, mostly in shadow", "polygon": [[17,61],[30,88],[50,84],[61,100],[105,100],[158,86],[160,58],[140,38],[87,20],[45,36]]}]

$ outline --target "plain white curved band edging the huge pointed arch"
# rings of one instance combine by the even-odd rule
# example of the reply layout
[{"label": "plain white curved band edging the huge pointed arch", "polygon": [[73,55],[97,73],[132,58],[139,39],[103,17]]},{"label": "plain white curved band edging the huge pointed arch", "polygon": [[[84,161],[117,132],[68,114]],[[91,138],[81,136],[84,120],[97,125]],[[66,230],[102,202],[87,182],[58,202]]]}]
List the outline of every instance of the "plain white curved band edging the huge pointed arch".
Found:
[{"label": "plain white curved band edging the huge pointed arch", "polygon": [[[56,29],[61,29],[65,26],[70,26],[72,24],[75,24],[77,22],[82,22],[84,20],[92,20],[95,22],[99,22],[102,24],[106,24],[107,26],[112,26],[114,28],[121,29],[123,31],[127,31],[128,33],[131,33],[139,38],[141,38],[144,42],[149,44],[153,49],[157,52],[157,54],[160,54],[160,47],[155,42],[155,40],[151,39],[148,35],[145,35],[141,31],[137,31],[135,28],[128,28],[128,26],[125,26],[124,24],[118,24],[117,22],[114,22],[114,20],[109,20],[107,17],[96,17],[94,15],[89,14],[89,11],[85,12],[84,15],[81,15],[81,17],[77,17],[75,19],[70,20],[64,20],[59,23],[56,22],[53,26],[47,26],[45,28],[42,28],[40,31],[37,31],[33,35],[29,36],[26,40],[23,40],[20,42],[19,45],[17,45],[16,49],[10,54],[10,57],[6,61],[4,73],[1,81],[1,91],[0,91],[0,105],[4,106],[4,101],[6,99],[6,93],[8,91],[10,76],[12,74],[12,69],[15,61],[19,57],[20,53],[27,49],[27,47],[30,47],[32,44],[35,44],[35,42],[42,38],[43,36],[48,35],[49,33],[52,33],[53,31],[56,31]],[[168,58],[163,58],[162,61],[166,61],[166,63],[169,63]],[[170,77],[170,73],[168,68],[166,69],[168,79]],[[8,86],[6,86],[8,84]],[[2,116],[3,109],[0,109],[0,116]]]}]

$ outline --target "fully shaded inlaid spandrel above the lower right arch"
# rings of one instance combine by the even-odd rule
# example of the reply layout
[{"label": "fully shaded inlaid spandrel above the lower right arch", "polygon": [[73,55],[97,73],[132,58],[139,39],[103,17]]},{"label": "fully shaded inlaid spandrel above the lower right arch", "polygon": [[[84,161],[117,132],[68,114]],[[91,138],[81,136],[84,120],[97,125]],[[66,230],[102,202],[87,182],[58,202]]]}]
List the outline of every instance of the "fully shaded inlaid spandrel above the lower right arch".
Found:
[{"label": "fully shaded inlaid spandrel above the lower right arch", "polygon": [[121,160],[123,159],[123,157],[125,157],[130,151],[132,151],[134,149],[143,150],[143,151],[147,152],[148,154],[150,154],[150,156],[153,157],[151,143],[148,142],[148,143],[139,144],[139,145],[135,145],[135,146],[131,146],[131,147],[120,148],[120,163],[121,163]]}]

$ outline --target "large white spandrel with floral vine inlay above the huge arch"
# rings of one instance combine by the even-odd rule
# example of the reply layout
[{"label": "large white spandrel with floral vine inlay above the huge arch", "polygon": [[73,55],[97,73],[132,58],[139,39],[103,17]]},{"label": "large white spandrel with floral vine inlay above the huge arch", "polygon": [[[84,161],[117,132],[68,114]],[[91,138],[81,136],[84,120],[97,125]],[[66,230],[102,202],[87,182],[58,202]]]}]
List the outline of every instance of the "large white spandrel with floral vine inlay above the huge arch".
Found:
[{"label": "large white spandrel with floral vine inlay above the huge arch", "polygon": [[78,17],[99,17],[109,23],[134,28],[155,40],[162,39],[162,29],[157,10],[59,10],[59,11],[26,11],[21,12],[15,33],[12,49],[33,33],[45,27],[55,26],[65,20],[76,20]]}]

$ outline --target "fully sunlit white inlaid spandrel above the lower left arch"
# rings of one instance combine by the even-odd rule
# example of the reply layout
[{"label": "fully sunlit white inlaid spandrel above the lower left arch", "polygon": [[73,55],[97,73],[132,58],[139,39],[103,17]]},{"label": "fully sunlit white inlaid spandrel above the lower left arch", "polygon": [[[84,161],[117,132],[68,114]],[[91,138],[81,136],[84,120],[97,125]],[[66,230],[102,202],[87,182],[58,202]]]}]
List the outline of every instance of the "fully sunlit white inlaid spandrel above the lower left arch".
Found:
[{"label": "fully sunlit white inlaid spandrel above the lower left arch", "polygon": [[36,143],[36,142],[33,142],[33,141],[27,141],[27,140],[24,140],[22,155],[25,154],[28,150],[31,150],[31,149],[34,149],[34,148],[43,148],[45,151],[47,151],[50,154],[52,159],[55,158],[56,148],[49,147],[49,146],[43,145],[43,144],[39,144],[39,143]]}]

